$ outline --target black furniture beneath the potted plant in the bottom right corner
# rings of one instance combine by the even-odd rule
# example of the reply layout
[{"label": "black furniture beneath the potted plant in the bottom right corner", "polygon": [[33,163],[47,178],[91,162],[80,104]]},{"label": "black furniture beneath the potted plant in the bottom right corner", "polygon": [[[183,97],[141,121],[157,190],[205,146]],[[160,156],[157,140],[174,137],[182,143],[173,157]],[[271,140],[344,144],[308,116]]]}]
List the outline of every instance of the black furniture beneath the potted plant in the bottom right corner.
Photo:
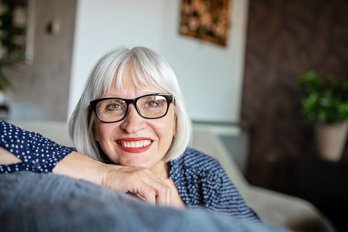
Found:
[{"label": "black furniture beneath the potted plant in the bottom right corner", "polygon": [[312,202],[338,232],[348,231],[348,161],[301,155],[294,165],[294,195]]}]

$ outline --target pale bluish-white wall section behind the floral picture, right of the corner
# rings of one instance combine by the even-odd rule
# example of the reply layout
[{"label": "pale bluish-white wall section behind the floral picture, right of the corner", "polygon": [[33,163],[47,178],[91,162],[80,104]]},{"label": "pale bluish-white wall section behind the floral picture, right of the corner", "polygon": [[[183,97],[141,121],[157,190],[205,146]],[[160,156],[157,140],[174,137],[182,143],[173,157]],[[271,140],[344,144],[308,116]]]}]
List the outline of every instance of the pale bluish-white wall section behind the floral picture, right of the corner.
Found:
[{"label": "pale bluish-white wall section behind the floral picture, right of the corner", "polygon": [[180,2],[166,1],[161,52],[179,79],[191,118],[239,121],[248,1],[231,1],[227,47],[180,35]]}]

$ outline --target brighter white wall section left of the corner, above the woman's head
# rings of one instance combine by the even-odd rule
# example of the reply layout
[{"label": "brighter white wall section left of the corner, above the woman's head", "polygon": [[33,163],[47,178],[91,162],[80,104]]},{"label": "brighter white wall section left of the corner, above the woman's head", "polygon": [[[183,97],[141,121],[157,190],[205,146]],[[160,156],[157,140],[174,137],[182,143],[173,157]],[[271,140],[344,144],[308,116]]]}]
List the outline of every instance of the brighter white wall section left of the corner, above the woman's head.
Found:
[{"label": "brighter white wall section left of the corner, above the woman's head", "polygon": [[110,49],[141,45],[158,51],[163,0],[78,0],[68,120],[90,70]]}]

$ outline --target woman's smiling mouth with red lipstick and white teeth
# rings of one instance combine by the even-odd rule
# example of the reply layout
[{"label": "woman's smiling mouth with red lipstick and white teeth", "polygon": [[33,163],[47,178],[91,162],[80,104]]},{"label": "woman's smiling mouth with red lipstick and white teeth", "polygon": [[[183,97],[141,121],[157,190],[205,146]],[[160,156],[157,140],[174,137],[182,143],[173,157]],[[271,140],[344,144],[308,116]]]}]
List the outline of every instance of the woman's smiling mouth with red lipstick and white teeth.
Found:
[{"label": "woman's smiling mouth with red lipstick and white teeth", "polygon": [[153,140],[151,138],[121,138],[115,141],[116,145],[129,153],[141,153],[149,150]]}]

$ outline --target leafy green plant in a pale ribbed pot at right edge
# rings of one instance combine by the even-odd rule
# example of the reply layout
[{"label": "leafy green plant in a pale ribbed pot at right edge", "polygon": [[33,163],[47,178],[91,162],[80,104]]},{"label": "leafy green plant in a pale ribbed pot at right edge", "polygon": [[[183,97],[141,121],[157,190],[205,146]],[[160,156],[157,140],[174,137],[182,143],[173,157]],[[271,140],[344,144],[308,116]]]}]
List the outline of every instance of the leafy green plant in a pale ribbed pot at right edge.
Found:
[{"label": "leafy green plant in a pale ribbed pot at right edge", "polygon": [[308,94],[301,101],[301,111],[306,121],[314,124],[320,156],[340,160],[348,133],[348,79],[328,74],[322,81],[310,71],[300,75],[299,84]]}]

